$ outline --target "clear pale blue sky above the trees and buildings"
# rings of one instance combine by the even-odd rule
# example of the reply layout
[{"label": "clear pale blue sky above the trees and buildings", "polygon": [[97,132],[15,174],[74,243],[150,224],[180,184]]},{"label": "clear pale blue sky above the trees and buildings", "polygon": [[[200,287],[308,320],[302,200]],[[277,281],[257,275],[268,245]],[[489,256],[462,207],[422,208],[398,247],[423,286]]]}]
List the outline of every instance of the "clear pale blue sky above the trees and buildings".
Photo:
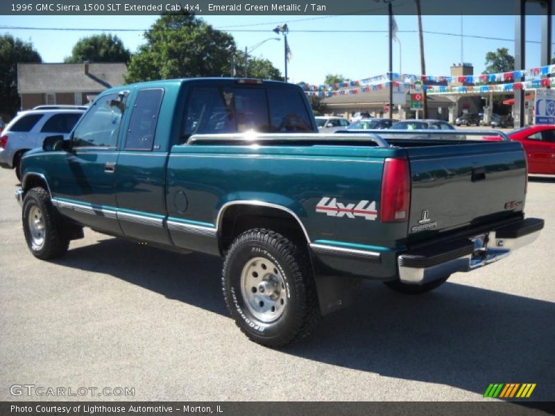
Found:
[{"label": "clear pale blue sky above the trees and buildings", "polygon": [[[273,40],[272,29],[278,24],[289,26],[288,42],[292,57],[288,64],[289,82],[323,83],[328,73],[337,73],[353,80],[386,73],[388,69],[387,16],[200,16],[215,28],[231,33],[239,50],[270,39],[253,50],[259,58],[267,58],[284,72],[284,42]],[[44,62],[62,62],[71,55],[71,48],[80,37],[100,33],[87,28],[146,29],[156,16],[0,16],[0,33],[10,33],[33,43]],[[420,50],[416,16],[396,16],[399,43],[393,44],[393,71],[420,74]],[[462,20],[462,27],[461,27]],[[40,31],[8,29],[6,26],[33,28],[82,28],[80,31]],[[423,16],[425,33],[426,75],[450,75],[450,67],[458,62],[474,64],[475,73],[485,67],[488,51],[506,47],[514,55],[514,16]],[[541,25],[539,16],[527,17],[526,67],[540,66]],[[246,31],[247,30],[247,31]],[[255,32],[253,32],[255,30]],[[317,31],[317,32],[305,32]],[[324,32],[323,32],[324,31]],[[353,31],[337,33],[333,31]],[[361,31],[384,31],[364,33]],[[142,32],[112,32],[134,52],[144,42]],[[461,51],[461,33],[462,51]],[[490,40],[495,37],[506,40]],[[400,54],[401,51],[401,54]],[[401,59],[400,59],[401,55]]]}]

